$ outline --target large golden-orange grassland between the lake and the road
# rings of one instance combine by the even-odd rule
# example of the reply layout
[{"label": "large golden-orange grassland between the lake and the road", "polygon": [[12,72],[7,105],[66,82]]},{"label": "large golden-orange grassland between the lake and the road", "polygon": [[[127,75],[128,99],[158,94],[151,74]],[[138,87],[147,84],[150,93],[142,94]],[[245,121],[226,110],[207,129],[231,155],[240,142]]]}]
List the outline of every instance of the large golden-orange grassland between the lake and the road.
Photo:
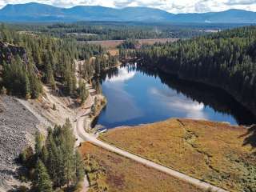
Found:
[{"label": "large golden-orange grassland between the lake and the road", "polygon": [[100,138],[227,190],[256,191],[252,134],[221,122],[169,119],[109,130]]}]

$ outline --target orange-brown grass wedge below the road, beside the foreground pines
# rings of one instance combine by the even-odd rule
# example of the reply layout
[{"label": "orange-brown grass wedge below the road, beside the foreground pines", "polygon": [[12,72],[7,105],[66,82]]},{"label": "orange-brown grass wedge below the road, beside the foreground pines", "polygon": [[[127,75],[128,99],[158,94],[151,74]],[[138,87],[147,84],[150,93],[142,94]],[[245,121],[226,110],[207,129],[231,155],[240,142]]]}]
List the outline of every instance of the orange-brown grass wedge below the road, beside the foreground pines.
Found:
[{"label": "orange-brown grass wedge below the road, beside the foreground pines", "polygon": [[[90,164],[94,167],[98,167],[95,162],[88,162],[88,159],[93,159],[93,161],[96,161],[101,167],[93,169],[98,170],[94,171],[94,175],[89,174],[91,184],[93,184],[93,186],[104,186],[108,188],[107,191],[109,192],[202,191],[177,178],[143,166],[138,162],[104,150],[101,147],[94,146],[89,142],[84,142],[79,150],[85,161],[85,165]],[[91,168],[87,168],[86,170],[90,169]],[[94,178],[99,178],[98,184],[92,181],[95,180]],[[104,184],[102,185],[102,183]],[[91,189],[91,191],[97,190]]]}]

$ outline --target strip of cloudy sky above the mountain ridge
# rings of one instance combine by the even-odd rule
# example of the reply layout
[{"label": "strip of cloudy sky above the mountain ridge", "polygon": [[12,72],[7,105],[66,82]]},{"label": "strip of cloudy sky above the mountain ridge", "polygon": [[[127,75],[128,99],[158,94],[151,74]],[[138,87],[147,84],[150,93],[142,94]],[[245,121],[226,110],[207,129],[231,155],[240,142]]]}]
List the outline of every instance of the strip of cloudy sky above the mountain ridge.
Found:
[{"label": "strip of cloudy sky above the mountain ridge", "polygon": [[228,9],[256,11],[256,0],[0,0],[0,7],[6,4],[40,2],[53,6],[109,6],[122,8],[125,6],[149,6],[171,13],[202,13]]}]

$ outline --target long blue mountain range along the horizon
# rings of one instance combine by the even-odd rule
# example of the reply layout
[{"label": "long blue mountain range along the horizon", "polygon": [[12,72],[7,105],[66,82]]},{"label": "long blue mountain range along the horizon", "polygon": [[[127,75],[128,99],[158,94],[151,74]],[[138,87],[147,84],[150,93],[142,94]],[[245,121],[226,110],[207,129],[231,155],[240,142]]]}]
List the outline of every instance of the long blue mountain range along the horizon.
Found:
[{"label": "long blue mountain range along the horizon", "polygon": [[74,6],[60,8],[30,2],[6,5],[0,10],[2,22],[218,22],[255,23],[256,12],[246,10],[226,10],[204,14],[171,14],[165,10],[148,7],[126,7],[114,9],[104,6]]}]

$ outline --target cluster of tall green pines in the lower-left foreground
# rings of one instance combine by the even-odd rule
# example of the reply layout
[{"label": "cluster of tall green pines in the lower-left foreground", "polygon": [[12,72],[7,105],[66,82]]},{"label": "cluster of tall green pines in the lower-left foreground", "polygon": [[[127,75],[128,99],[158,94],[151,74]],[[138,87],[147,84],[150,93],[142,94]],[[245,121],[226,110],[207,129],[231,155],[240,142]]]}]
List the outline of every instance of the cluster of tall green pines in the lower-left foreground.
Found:
[{"label": "cluster of tall green pines in the lower-left foreground", "polygon": [[46,139],[42,134],[36,135],[34,151],[28,147],[20,155],[20,161],[26,167],[22,178],[32,181],[32,191],[74,191],[81,187],[85,170],[74,144],[68,119],[63,126],[55,126],[53,130],[49,128]]}]

